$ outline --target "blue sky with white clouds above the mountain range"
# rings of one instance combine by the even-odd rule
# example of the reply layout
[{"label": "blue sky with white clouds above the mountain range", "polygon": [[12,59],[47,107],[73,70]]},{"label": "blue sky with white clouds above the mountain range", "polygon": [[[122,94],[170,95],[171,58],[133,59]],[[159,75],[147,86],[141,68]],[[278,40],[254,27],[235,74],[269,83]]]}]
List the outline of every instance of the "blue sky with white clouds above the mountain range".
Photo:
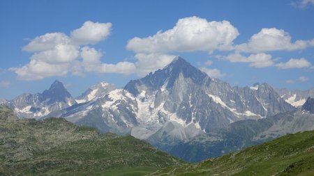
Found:
[{"label": "blue sky with white clouds above the mountain range", "polygon": [[[314,87],[314,1],[0,1],[0,98],[73,96],[181,56],[232,86]],[[158,32],[159,31],[159,32]]]}]

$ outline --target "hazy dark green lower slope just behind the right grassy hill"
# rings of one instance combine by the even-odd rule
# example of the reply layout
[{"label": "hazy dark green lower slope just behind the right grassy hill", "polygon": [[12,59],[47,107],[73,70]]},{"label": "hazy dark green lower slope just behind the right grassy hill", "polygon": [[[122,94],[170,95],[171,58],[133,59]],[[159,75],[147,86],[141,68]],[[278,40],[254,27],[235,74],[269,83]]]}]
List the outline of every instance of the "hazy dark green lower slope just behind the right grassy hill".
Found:
[{"label": "hazy dark green lower slope just behind the right grassy hill", "polygon": [[199,162],[209,157],[243,150],[286,134],[314,130],[314,114],[306,111],[279,113],[260,120],[234,122],[216,133],[200,134],[165,150],[185,161]]}]

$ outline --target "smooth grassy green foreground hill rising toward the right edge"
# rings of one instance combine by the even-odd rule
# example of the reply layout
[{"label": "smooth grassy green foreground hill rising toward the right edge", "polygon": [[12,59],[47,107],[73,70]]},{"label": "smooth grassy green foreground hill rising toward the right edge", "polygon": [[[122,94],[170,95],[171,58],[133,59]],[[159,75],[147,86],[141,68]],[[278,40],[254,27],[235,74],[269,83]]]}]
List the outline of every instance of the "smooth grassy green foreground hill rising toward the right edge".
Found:
[{"label": "smooth grassy green foreground hill rising toward the right edge", "polygon": [[314,131],[288,134],[240,152],[151,175],[314,175]]}]

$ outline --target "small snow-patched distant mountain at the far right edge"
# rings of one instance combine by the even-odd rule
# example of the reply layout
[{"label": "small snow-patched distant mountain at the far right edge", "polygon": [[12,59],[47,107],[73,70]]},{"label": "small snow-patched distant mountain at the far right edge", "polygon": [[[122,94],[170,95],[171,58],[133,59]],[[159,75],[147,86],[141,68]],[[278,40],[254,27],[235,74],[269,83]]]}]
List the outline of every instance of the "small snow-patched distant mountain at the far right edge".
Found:
[{"label": "small snow-patched distant mountain at the far right edge", "polygon": [[314,88],[309,90],[287,90],[285,88],[276,90],[285,102],[295,107],[301,107],[308,97],[314,97]]}]

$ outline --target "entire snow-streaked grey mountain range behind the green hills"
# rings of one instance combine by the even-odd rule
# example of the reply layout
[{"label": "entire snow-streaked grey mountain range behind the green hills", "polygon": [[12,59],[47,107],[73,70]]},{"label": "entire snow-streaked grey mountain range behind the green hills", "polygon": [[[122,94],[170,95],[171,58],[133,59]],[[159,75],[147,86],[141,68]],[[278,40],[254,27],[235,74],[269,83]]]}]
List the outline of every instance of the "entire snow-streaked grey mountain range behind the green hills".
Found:
[{"label": "entire snow-streaked grey mountain range behind the green hills", "polygon": [[19,118],[64,118],[103,133],[130,134],[195,162],[313,128],[313,115],[300,109],[313,92],[267,83],[232,87],[177,57],[122,89],[102,82],[73,98],[55,81],[41,94],[2,103]]}]

